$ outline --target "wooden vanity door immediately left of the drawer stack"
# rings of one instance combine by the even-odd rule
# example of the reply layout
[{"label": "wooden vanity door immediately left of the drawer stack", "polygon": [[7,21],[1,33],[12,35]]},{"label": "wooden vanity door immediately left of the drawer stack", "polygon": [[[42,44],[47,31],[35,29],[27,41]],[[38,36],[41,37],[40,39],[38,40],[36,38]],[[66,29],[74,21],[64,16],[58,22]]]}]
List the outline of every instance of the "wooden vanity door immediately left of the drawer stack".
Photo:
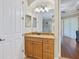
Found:
[{"label": "wooden vanity door immediately left of the drawer stack", "polygon": [[33,42],[33,57],[35,59],[42,59],[42,42]]}]

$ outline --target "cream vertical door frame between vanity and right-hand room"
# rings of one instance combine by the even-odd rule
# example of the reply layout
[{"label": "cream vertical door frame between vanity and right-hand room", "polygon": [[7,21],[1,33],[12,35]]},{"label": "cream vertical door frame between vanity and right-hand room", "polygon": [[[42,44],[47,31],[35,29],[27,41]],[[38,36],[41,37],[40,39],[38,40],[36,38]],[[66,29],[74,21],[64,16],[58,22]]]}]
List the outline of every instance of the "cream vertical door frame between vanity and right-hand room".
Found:
[{"label": "cream vertical door frame between vanity and right-hand room", "polygon": [[61,57],[62,21],[61,21],[61,0],[55,0],[55,59]]}]

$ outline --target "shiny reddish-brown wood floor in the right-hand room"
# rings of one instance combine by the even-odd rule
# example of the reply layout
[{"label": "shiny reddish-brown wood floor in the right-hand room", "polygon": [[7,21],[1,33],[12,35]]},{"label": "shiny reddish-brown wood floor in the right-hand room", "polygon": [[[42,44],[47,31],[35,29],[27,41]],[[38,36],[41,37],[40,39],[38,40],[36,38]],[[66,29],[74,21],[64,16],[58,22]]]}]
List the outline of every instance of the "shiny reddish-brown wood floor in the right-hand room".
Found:
[{"label": "shiny reddish-brown wood floor in the right-hand room", "polygon": [[64,36],[61,44],[62,57],[70,59],[79,59],[79,44],[75,39]]}]

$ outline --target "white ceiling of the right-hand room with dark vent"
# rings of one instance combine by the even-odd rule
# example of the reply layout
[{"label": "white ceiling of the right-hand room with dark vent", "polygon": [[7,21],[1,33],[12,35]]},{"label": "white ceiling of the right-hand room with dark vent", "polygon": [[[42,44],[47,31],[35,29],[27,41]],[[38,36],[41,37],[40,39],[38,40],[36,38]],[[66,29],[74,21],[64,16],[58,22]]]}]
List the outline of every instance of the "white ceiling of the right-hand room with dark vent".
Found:
[{"label": "white ceiling of the right-hand room with dark vent", "polygon": [[61,15],[68,16],[79,13],[79,0],[61,0]]}]

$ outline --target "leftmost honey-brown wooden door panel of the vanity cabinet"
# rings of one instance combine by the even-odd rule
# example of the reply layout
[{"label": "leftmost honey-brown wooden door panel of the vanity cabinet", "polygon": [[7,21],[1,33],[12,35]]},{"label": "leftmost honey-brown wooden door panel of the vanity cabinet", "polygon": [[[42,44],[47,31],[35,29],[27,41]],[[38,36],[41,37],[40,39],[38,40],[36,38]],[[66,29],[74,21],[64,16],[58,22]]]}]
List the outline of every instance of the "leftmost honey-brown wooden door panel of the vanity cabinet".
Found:
[{"label": "leftmost honey-brown wooden door panel of the vanity cabinet", "polygon": [[26,38],[26,43],[25,43],[25,54],[27,55],[27,57],[32,57],[33,56],[33,52],[32,52],[32,41],[30,40],[30,38]]}]

